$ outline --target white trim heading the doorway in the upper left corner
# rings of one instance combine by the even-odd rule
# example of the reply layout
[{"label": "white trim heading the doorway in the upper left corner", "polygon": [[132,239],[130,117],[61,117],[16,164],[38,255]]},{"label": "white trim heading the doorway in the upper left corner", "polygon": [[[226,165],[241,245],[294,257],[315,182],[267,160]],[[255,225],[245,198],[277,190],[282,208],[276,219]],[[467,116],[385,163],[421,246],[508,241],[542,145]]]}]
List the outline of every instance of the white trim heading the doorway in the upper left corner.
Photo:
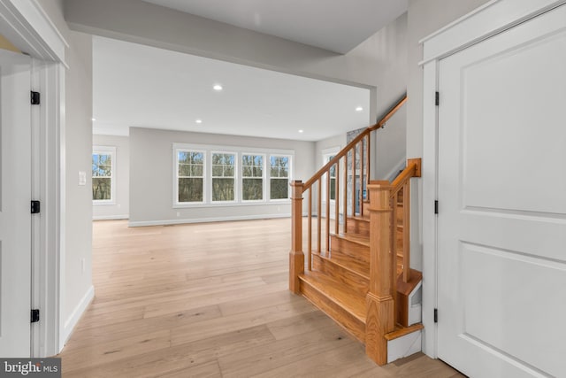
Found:
[{"label": "white trim heading the doorway in the upper left corner", "polygon": [[[68,43],[36,0],[0,0],[3,34],[34,58],[65,64]],[[4,29],[3,27],[3,29]]]}]

